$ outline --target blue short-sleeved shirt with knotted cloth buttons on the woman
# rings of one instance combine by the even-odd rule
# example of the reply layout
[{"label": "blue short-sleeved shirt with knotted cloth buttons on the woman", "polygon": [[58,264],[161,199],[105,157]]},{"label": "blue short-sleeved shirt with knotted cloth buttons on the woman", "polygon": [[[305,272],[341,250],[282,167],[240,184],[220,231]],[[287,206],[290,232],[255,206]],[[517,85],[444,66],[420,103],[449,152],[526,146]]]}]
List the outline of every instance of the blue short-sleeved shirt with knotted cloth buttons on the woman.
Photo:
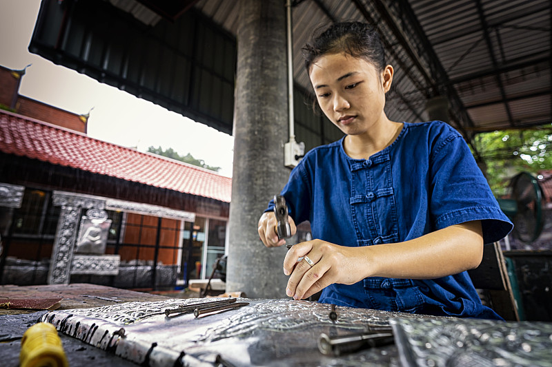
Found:
[{"label": "blue short-sleeved shirt with knotted cloth buttons on the woman", "polygon": [[[485,243],[511,231],[464,138],[450,125],[404,123],[397,139],[367,160],[347,156],[343,140],[308,151],[282,190],[290,216],[295,223],[309,220],[313,238],[393,246],[470,220],[481,220]],[[433,280],[368,277],[331,284],[319,302],[500,319],[481,304],[465,271]]]}]

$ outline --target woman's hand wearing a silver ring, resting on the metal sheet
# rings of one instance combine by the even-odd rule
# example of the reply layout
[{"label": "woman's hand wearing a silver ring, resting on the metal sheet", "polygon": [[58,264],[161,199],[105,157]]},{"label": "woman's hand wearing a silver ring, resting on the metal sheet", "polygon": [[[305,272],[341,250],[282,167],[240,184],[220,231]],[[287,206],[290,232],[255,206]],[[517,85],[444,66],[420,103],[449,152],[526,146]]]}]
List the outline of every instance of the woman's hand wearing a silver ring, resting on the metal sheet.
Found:
[{"label": "woman's hand wearing a silver ring, resting on the metal sheet", "polygon": [[354,284],[364,279],[366,261],[358,250],[322,240],[293,245],[284,259],[284,273],[290,275],[286,294],[302,300],[330,284]]}]

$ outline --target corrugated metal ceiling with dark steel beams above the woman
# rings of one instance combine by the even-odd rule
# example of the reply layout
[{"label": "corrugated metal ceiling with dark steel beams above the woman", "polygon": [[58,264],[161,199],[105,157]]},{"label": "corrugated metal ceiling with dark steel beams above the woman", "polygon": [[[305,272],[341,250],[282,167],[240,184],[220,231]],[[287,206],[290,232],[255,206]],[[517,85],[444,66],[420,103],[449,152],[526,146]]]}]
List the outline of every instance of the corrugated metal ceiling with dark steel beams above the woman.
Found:
[{"label": "corrugated metal ceiling with dark steel beams above the woman", "polygon": [[[104,1],[153,29],[177,23],[194,10],[236,38],[238,0]],[[391,120],[428,120],[434,118],[428,106],[436,105],[436,116],[459,129],[469,143],[479,132],[550,128],[551,4],[552,0],[293,0],[295,83],[311,91],[301,48],[313,30],[335,21],[366,21],[380,31],[388,63],[395,67],[394,89],[386,102]]]}]

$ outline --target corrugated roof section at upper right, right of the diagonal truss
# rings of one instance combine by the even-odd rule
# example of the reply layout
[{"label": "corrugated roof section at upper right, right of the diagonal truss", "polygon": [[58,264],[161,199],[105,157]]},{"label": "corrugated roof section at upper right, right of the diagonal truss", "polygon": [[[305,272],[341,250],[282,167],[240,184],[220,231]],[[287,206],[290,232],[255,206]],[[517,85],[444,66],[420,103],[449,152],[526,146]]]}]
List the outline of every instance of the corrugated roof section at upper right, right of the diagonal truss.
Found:
[{"label": "corrugated roof section at upper right, right of the diagonal truss", "polygon": [[410,3],[473,129],[552,122],[550,1]]}]

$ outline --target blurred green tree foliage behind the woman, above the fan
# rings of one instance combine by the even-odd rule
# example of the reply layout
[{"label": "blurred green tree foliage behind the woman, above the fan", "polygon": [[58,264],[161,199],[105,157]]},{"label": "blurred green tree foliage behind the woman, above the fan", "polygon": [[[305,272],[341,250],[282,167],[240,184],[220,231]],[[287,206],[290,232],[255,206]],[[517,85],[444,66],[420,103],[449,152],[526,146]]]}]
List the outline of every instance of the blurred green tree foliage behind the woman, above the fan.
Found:
[{"label": "blurred green tree foliage behind the woman, above the fan", "polygon": [[510,179],[521,171],[537,174],[552,169],[551,143],[550,125],[478,134],[475,147],[485,162],[493,193],[506,193]]}]

